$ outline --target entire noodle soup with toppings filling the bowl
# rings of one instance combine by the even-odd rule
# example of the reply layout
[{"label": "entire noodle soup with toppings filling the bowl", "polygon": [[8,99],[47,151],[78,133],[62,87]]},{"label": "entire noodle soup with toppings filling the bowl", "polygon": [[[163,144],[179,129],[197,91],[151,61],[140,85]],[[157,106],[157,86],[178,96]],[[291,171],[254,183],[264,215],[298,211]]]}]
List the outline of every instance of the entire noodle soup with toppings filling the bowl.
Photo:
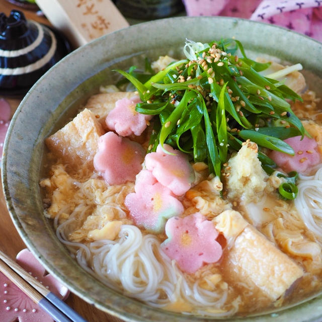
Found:
[{"label": "entire noodle soup with toppings filling the bowl", "polygon": [[45,215],[86,271],[152,306],[221,317],[316,294],[319,98],[299,64],[232,39],[184,53],[120,70],[134,91],[102,87],[46,139]]}]

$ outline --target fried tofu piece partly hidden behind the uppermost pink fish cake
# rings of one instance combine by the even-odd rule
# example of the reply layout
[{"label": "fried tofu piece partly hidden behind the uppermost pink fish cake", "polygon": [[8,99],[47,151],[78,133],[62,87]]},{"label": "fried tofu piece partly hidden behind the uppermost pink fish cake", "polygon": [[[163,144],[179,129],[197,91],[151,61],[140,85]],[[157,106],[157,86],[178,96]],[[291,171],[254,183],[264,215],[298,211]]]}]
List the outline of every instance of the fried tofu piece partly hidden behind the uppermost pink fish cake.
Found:
[{"label": "fried tofu piece partly hidden behind the uppermost pink fish cake", "polygon": [[103,129],[107,130],[105,119],[109,112],[114,109],[116,101],[124,98],[130,99],[133,96],[135,96],[134,92],[97,94],[89,98],[85,107],[97,117]]}]

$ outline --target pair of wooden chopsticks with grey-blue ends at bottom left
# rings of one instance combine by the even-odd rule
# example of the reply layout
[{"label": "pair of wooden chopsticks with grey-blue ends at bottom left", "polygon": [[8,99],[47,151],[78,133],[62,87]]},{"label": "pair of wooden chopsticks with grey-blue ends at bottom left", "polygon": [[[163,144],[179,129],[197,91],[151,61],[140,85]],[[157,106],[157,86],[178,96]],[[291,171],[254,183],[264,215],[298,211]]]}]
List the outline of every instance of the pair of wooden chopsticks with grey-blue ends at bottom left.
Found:
[{"label": "pair of wooden chopsticks with grey-blue ends at bottom left", "polygon": [[1,251],[0,271],[51,315],[56,322],[87,322],[81,315]]}]

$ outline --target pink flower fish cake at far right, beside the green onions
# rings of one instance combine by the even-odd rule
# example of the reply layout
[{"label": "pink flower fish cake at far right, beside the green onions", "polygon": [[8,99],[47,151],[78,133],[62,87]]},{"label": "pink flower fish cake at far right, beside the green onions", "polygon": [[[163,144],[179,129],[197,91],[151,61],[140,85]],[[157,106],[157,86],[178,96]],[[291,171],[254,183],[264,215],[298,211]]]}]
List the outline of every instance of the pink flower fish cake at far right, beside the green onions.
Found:
[{"label": "pink flower fish cake at far right, beside the green onions", "polygon": [[317,143],[314,139],[304,136],[294,136],[284,140],[293,150],[294,155],[272,151],[269,156],[286,172],[297,171],[305,173],[312,166],[320,162],[320,154],[316,150]]}]

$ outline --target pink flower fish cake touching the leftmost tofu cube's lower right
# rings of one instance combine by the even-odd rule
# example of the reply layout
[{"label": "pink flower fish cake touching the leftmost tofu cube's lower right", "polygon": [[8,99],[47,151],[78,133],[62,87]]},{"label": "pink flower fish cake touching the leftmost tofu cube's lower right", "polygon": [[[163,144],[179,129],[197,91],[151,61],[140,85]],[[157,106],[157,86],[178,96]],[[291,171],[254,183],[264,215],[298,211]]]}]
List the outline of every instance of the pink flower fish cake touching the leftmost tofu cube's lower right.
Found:
[{"label": "pink flower fish cake touching the leftmost tofu cube's lower right", "polygon": [[135,180],[142,169],[144,155],[145,151],[139,143],[107,132],[99,139],[94,168],[102,173],[109,185],[120,185]]}]

